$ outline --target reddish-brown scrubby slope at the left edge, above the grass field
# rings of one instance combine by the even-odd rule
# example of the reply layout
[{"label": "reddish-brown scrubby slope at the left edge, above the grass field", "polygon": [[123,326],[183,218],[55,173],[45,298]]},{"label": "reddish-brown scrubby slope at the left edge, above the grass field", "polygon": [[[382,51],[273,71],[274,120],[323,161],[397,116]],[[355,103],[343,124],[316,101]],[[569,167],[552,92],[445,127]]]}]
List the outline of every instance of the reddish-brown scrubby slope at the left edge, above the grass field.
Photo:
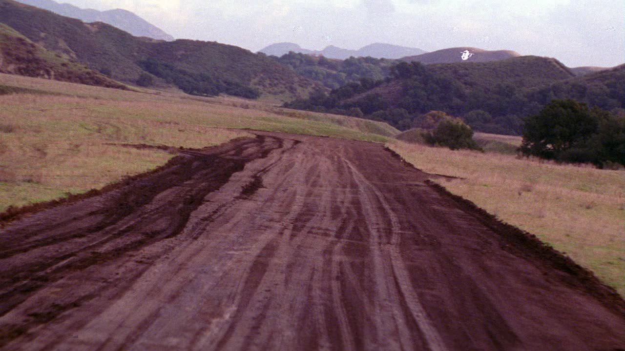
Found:
[{"label": "reddish-brown scrubby slope at the left edge, above the grass field", "polygon": [[127,89],[83,64],[69,61],[34,44],[15,29],[0,23],[0,72]]}]

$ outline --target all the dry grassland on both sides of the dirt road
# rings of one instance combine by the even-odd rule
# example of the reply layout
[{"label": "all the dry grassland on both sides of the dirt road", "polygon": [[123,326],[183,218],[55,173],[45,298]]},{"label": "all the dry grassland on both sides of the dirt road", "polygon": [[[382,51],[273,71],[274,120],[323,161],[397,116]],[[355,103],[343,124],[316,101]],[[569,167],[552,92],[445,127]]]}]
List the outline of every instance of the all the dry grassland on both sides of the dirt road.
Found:
[{"label": "all the dry grassland on both sides of the dirt road", "polygon": [[[486,153],[406,144],[379,122],[262,102],[120,91],[0,74],[0,212],[98,189],[173,153],[115,144],[206,147],[237,129],[388,142],[457,195],[538,235],[625,295],[625,172],[514,157],[519,137],[476,133]],[[10,94],[4,94],[8,92]]]}]

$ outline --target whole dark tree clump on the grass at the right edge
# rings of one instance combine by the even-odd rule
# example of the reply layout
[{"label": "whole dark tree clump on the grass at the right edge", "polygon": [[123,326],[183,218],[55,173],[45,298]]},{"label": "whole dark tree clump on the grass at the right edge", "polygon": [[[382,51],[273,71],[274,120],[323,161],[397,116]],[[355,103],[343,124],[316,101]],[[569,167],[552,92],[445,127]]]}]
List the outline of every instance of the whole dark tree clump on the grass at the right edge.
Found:
[{"label": "whole dark tree clump on the grass at the right edge", "polygon": [[625,166],[625,113],[554,99],[524,119],[521,152],[562,162]]}]

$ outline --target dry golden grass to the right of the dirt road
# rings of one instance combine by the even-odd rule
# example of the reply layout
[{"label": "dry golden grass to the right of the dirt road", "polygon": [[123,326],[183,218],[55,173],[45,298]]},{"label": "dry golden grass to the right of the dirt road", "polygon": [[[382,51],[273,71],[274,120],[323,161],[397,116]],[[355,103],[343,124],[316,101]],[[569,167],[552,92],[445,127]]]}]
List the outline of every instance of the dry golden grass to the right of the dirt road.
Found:
[{"label": "dry golden grass to the right of the dirt road", "polygon": [[566,252],[625,295],[625,172],[403,142],[389,147],[418,169],[464,178],[439,183]]}]

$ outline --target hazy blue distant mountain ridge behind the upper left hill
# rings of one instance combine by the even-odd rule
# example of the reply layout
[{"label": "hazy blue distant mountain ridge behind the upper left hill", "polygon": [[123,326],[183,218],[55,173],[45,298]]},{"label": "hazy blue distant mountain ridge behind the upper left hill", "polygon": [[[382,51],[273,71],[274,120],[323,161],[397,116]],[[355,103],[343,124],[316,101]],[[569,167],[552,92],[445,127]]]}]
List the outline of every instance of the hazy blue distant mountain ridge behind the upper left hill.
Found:
[{"label": "hazy blue distant mountain ridge behind the upper left hill", "polygon": [[173,36],[162,31],[145,19],[133,12],[123,9],[98,11],[94,9],[81,9],[71,4],[59,4],[52,0],[19,0],[27,5],[36,6],[56,14],[78,18],[83,22],[104,22],[118,27],[123,31],[138,37],[151,37],[153,39],[172,41]]}]

